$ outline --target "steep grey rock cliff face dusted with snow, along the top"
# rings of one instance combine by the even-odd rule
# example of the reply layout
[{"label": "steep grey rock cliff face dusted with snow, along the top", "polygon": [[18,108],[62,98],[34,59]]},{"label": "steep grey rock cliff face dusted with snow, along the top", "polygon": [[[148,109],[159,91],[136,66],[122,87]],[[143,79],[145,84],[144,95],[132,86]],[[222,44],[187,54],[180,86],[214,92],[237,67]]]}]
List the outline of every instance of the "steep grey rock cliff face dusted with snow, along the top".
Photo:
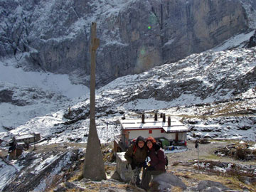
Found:
[{"label": "steep grey rock cliff face dusted with snow, along the top", "polygon": [[[0,57],[87,83],[97,22],[97,85],[213,48],[249,27],[241,1],[0,1]],[[252,6],[253,7],[253,6]],[[80,77],[80,79],[78,79]]]}]

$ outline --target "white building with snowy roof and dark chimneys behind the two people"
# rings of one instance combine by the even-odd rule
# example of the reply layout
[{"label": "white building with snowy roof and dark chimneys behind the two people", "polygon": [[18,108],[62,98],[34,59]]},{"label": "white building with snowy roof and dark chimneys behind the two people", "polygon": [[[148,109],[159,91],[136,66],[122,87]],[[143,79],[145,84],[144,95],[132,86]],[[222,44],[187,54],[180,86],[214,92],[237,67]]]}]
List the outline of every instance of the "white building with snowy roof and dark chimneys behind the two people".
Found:
[{"label": "white building with snowy roof and dark chimneys behind the two people", "polygon": [[165,114],[158,119],[155,114],[154,119],[124,119],[119,120],[121,124],[121,134],[114,138],[114,151],[125,151],[133,139],[138,136],[154,137],[162,146],[186,146],[187,132],[189,129],[175,117],[168,117]]}]

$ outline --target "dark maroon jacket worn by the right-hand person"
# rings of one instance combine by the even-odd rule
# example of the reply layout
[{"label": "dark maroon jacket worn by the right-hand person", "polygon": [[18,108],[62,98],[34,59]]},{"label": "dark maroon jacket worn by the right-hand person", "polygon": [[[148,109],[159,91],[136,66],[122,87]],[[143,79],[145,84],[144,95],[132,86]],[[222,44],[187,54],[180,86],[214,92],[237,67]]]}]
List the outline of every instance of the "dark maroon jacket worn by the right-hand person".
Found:
[{"label": "dark maroon jacket worn by the right-hand person", "polygon": [[165,171],[164,150],[158,144],[153,145],[152,149],[148,151],[148,156],[150,157],[149,164],[154,167],[154,170]]}]

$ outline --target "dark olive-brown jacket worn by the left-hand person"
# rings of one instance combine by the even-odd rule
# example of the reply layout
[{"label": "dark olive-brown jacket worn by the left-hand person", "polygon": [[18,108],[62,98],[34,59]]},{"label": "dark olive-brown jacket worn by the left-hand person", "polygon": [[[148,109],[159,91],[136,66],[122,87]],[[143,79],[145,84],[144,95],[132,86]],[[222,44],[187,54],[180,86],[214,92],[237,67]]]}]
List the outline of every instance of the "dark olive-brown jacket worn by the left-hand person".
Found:
[{"label": "dark olive-brown jacket worn by the left-hand person", "polygon": [[142,148],[138,146],[139,140],[129,146],[127,151],[124,154],[124,158],[127,159],[128,164],[134,164],[135,166],[142,166],[144,161],[146,160],[146,144]]}]

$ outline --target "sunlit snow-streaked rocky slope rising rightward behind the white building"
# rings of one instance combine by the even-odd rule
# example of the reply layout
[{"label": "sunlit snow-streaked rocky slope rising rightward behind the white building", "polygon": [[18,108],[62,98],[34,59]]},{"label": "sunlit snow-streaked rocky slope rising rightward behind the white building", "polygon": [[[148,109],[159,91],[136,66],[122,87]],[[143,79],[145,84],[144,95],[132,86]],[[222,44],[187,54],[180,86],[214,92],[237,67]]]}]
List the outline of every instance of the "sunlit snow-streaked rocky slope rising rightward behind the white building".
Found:
[{"label": "sunlit snow-streaked rocky slope rising rightward behind the white building", "polygon": [[[96,95],[101,141],[119,134],[117,120],[123,112],[128,117],[146,112],[149,117],[152,111],[180,119],[186,117],[183,122],[194,129],[191,139],[194,136],[253,140],[255,51],[256,48],[206,51],[105,85]],[[33,118],[11,133],[40,132],[42,137],[48,137],[48,143],[86,142],[90,100],[84,95],[74,103],[67,101],[62,105],[66,106],[64,110]]]}]

